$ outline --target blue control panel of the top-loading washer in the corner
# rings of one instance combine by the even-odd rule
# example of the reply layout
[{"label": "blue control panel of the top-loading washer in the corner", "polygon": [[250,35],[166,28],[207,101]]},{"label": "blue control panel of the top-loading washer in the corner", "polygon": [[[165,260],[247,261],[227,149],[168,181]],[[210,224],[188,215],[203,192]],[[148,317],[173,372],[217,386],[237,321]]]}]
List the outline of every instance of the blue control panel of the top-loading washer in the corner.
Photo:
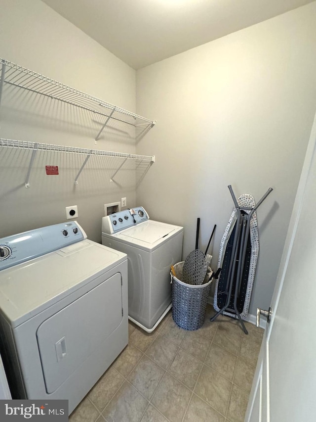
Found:
[{"label": "blue control panel of the top-loading washer in the corner", "polygon": [[143,207],[130,208],[102,218],[102,232],[113,234],[149,220]]}]

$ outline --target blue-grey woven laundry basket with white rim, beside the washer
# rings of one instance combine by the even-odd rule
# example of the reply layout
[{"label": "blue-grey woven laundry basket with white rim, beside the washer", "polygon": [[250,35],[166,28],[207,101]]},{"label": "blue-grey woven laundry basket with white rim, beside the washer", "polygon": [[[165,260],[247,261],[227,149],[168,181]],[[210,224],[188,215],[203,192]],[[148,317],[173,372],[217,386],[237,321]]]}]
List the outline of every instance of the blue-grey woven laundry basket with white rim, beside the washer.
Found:
[{"label": "blue-grey woven laundry basket with white rim, beside the washer", "polygon": [[211,272],[206,277],[205,284],[192,285],[179,280],[182,278],[184,261],[173,266],[176,277],[171,274],[172,281],[172,318],[180,328],[193,331],[202,327],[205,318],[206,304],[211,286],[208,281]]}]

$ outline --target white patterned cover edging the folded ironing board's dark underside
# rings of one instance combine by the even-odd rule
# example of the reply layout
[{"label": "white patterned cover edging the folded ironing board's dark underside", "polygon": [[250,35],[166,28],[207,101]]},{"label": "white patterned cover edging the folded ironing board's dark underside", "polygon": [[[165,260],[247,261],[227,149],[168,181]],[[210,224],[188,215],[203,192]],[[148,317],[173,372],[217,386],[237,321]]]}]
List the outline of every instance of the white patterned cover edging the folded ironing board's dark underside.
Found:
[{"label": "white patterned cover edging the folded ironing board's dark underside", "polygon": [[[239,207],[248,207],[253,208],[255,207],[255,200],[253,196],[249,195],[248,193],[243,193],[239,196],[237,199],[237,203]],[[245,210],[247,214],[250,213],[250,210]],[[220,251],[219,251],[219,257],[218,257],[218,268],[222,268],[226,247],[228,240],[234,230],[235,223],[237,221],[237,209],[234,208],[233,213],[231,215],[231,218],[227,224],[227,227],[225,229]],[[247,287],[246,287],[246,294],[245,294],[245,300],[243,304],[243,310],[240,312],[240,317],[244,320],[247,317],[248,314],[248,308],[249,308],[249,302],[251,297],[251,291],[253,286],[253,281],[255,278],[256,273],[256,266],[257,266],[257,260],[259,255],[259,234],[258,234],[258,223],[257,223],[257,215],[256,212],[252,214],[252,217],[250,219],[250,243],[251,243],[251,254],[250,254],[250,266],[249,266],[249,275],[248,275],[248,281],[247,281]],[[217,298],[218,298],[218,285],[220,282],[220,277],[218,280],[216,280],[216,286],[215,286],[215,294],[214,294],[214,309],[215,311],[219,311],[220,308],[217,305]],[[229,315],[231,317],[237,318],[236,314],[233,314],[231,312],[224,311],[224,315]]]}]

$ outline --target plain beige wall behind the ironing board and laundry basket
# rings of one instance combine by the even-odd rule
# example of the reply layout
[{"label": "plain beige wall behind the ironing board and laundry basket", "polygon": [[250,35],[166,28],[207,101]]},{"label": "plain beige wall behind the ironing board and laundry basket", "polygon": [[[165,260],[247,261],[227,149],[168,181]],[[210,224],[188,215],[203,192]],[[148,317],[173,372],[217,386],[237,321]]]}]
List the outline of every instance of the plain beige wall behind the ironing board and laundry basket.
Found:
[{"label": "plain beige wall behind the ironing board and laundry basket", "polygon": [[251,314],[270,305],[316,111],[315,22],[313,2],[136,73],[137,112],[157,119],[137,145],[156,155],[137,203],[153,219],[184,226],[184,258],[200,217],[201,248],[217,224],[217,267],[233,209],[228,185],[256,201],[274,188],[257,212]]}]

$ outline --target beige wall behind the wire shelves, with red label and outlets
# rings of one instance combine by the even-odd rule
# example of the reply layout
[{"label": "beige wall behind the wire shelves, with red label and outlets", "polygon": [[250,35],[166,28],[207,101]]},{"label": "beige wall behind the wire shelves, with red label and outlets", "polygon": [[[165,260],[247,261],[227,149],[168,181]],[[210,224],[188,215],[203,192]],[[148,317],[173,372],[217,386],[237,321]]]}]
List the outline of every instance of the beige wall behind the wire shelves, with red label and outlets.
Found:
[{"label": "beige wall behind the wire shelves, with red label and outlets", "polygon": [[[135,71],[40,0],[0,0],[0,57],[135,111]],[[4,91],[1,138],[135,153],[126,125],[110,125],[95,145],[102,126],[96,116],[7,86]],[[88,237],[101,241],[104,203],[126,196],[127,205],[135,205],[134,171],[123,170],[110,183],[119,159],[90,158],[75,187],[84,156],[38,153],[26,189],[31,152],[0,149],[0,237],[63,222],[65,206],[77,204]],[[58,165],[59,176],[46,176],[45,165]]]}]

